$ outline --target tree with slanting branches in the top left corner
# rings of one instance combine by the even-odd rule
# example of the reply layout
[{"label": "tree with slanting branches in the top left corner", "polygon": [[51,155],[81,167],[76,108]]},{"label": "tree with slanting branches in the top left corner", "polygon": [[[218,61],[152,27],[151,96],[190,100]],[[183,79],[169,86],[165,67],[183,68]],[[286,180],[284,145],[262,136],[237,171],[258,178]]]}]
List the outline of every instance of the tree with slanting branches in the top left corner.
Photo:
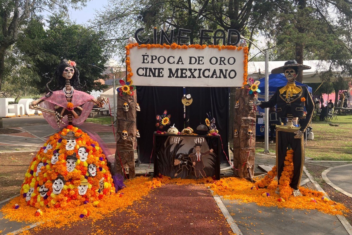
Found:
[{"label": "tree with slanting branches in the top left corner", "polygon": [[5,72],[7,50],[18,40],[19,33],[26,27],[30,17],[43,10],[67,12],[69,6],[77,8],[87,0],[2,0],[0,1],[0,91]]}]

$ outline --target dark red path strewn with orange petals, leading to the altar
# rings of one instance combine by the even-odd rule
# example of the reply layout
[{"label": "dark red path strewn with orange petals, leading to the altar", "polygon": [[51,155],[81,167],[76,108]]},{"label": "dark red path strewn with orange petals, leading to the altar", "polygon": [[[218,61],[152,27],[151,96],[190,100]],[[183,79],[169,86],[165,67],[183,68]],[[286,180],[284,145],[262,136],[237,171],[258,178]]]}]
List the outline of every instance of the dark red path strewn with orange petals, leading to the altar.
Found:
[{"label": "dark red path strewn with orange petals, leading to the altar", "polygon": [[[78,215],[77,215],[78,216]],[[89,219],[70,227],[31,230],[32,234],[233,234],[204,185],[163,185],[122,212],[92,224]]]}]

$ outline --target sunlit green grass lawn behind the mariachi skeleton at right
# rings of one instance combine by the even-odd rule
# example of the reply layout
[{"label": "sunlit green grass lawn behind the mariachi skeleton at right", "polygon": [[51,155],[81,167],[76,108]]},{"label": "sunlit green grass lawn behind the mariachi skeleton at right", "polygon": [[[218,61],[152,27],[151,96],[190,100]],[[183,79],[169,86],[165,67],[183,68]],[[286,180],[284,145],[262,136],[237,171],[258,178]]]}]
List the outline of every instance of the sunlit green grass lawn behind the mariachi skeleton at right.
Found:
[{"label": "sunlit green grass lawn behind the mariachi skeleton at right", "polygon": [[[331,122],[313,121],[314,140],[308,140],[304,145],[306,157],[317,161],[352,161],[352,115],[338,115],[337,118]],[[257,138],[256,152],[263,151],[264,138]],[[275,153],[275,143],[269,143],[269,151]]]}]

